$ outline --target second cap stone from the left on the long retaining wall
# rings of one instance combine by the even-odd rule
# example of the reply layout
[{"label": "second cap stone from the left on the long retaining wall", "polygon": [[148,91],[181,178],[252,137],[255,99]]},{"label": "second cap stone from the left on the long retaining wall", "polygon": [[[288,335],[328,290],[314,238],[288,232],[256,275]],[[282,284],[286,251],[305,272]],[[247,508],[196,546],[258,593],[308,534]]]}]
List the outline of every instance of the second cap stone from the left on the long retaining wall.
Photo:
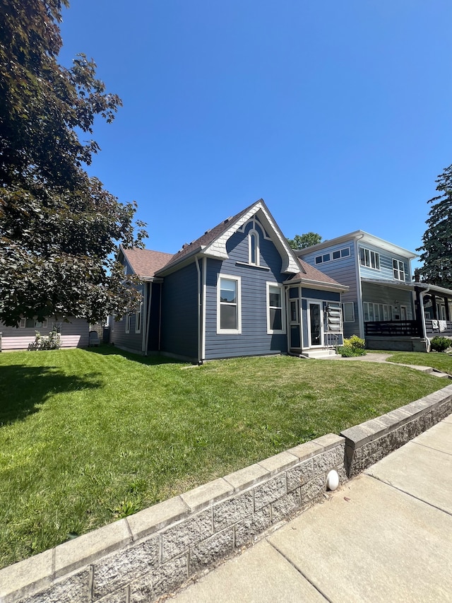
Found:
[{"label": "second cap stone from the left on the long retaining wall", "polygon": [[58,578],[93,559],[106,555],[131,542],[132,536],[125,519],[68,540],[55,547],[55,575]]}]

